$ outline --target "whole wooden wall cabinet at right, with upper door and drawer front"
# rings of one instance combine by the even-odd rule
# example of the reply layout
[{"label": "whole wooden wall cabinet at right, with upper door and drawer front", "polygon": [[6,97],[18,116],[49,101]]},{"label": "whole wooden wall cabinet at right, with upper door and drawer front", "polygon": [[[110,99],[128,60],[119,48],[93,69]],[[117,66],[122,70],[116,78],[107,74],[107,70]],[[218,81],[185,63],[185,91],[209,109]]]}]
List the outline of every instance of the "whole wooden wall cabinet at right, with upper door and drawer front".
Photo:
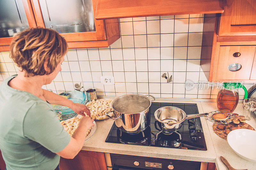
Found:
[{"label": "whole wooden wall cabinet at right, with upper door and drawer front", "polygon": [[[227,0],[223,14],[204,15],[200,65],[208,81],[256,82],[255,9],[255,0]],[[241,68],[230,71],[235,63]]]}]

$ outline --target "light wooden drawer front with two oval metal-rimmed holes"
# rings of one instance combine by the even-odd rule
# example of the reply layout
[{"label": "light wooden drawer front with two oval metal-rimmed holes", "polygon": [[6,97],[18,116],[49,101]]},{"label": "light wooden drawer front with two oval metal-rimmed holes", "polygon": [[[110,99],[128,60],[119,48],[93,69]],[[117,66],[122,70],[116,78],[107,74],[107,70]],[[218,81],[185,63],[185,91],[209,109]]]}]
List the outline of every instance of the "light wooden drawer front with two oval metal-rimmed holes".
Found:
[{"label": "light wooden drawer front with two oval metal-rimmed holes", "polygon": [[[216,81],[221,80],[249,80],[256,46],[220,46]],[[239,57],[233,54],[239,52]],[[229,71],[228,66],[232,63],[241,64],[238,71]]]}]

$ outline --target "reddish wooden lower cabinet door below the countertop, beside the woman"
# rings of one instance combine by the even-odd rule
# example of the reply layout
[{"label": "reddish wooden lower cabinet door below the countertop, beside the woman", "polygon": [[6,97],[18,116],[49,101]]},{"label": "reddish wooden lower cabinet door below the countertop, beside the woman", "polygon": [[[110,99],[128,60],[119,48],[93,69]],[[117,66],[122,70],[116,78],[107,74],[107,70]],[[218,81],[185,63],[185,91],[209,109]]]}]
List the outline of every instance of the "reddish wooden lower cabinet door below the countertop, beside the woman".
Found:
[{"label": "reddish wooden lower cabinet door below the countertop, beside the woman", "polygon": [[60,157],[60,170],[107,170],[105,155],[102,152],[81,150],[74,159]]}]

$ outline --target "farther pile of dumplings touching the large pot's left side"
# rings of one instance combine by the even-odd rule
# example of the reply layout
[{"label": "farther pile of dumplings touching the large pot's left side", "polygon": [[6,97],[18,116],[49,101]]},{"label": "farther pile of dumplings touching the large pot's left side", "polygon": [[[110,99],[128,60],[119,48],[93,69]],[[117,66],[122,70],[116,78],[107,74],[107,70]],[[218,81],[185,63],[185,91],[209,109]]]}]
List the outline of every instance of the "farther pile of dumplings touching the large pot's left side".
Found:
[{"label": "farther pile of dumplings touching the large pot's left side", "polygon": [[[98,100],[92,100],[92,102],[86,103],[86,106],[91,111],[91,118],[96,120],[103,120],[108,118],[105,113],[112,111],[113,108],[111,106],[113,100],[112,99],[98,99]],[[84,113],[86,115],[86,113]],[[110,117],[114,116],[113,112],[108,113]],[[86,115],[88,116],[88,115]]]}]

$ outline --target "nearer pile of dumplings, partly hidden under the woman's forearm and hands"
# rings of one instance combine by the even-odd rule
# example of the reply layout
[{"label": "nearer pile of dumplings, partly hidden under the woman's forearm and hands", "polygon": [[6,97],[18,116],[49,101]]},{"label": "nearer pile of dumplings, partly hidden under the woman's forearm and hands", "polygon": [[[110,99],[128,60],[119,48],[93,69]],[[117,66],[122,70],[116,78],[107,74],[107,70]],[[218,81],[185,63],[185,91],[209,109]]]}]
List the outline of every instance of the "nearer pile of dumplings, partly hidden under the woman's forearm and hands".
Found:
[{"label": "nearer pile of dumplings, partly hidden under the woman's forearm and hands", "polygon": [[[70,119],[68,119],[68,120],[64,120],[64,121],[61,121],[60,123],[62,124],[62,126],[64,127],[64,129],[65,129],[65,131],[67,131],[68,132],[68,134],[70,135],[70,136],[72,136],[74,133],[75,133],[75,131],[76,131],[76,129],[77,129],[77,127],[78,127],[78,124],[79,124],[79,122],[80,122],[80,120],[83,118],[83,116],[81,116],[80,118],[78,118],[78,117],[72,117],[72,118],[70,118]],[[92,127],[90,127],[88,130],[87,130],[87,132],[86,132],[86,136],[87,135],[89,135],[89,133],[90,133],[90,131],[92,130]]]}]

